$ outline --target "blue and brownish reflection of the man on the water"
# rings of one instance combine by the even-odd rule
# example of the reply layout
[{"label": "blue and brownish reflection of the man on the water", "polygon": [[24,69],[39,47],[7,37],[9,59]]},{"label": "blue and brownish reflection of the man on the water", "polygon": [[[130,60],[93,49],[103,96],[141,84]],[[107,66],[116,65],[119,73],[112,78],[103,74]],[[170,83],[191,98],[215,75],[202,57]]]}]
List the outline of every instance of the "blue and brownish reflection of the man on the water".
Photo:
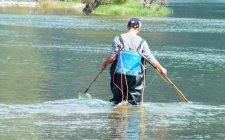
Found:
[{"label": "blue and brownish reflection of the man on the water", "polygon": [[111,134],[110,137],[119,140],[147,138],[146,127],[148,116],[143,106],[121,106],[113,108],[109,117]]}]

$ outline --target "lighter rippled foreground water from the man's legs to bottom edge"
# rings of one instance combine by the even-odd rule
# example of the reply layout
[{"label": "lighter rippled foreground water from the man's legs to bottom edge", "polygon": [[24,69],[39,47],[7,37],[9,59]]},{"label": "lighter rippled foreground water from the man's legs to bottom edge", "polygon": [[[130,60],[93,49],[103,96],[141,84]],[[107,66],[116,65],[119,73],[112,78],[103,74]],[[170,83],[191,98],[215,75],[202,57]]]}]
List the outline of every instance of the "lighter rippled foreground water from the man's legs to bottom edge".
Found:
[{"label": "lighter rippled foreground water from the man's legs to bottom edge", "polygon": [[1,138],[214,139],[224,138],[224,105],[150,103],[113,108],[107,101],[58,100],[0,104]]}]

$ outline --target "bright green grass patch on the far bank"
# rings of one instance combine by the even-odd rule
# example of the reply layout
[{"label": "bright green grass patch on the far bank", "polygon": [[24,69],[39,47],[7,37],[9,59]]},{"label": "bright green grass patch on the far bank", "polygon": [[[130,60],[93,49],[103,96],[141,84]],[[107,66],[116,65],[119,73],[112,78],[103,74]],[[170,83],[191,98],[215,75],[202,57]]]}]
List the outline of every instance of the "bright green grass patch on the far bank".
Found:
[{"label": "bright green grass patch on the far bank", "polygon": [[153,5],[149,9],[144,8],[140,2],[100,5],[93,11],[93,14],[114,16],[166,16],[171,13],[172,10],[167,7]]}]

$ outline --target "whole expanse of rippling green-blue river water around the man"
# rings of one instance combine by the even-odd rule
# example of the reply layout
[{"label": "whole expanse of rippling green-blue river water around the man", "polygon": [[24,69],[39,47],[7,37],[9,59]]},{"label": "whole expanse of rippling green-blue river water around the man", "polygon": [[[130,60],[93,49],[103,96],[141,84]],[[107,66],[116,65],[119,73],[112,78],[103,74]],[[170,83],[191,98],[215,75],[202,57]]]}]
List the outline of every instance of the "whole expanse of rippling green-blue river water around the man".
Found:
[{"label": "whole expanse of rippling green-blue river water around the man", "polygon": [[173,15],[140,17],[141,36],[190,100],[151,66],[144,104],[113,108],[100,70],[129,17],[0,9],[0,139],[225,139],[225,1],[173,0]]}]

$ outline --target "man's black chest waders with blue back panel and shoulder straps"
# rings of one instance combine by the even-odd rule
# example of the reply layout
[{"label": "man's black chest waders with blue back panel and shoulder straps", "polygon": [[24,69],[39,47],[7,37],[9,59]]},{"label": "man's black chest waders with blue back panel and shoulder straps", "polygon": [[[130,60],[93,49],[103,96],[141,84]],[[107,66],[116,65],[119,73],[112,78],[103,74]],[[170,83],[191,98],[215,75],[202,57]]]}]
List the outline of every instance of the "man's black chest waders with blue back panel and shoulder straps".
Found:
[{"label": "man's black chest waders with blue back panel and shoulder straps", "polygon": [[[132,105],[139,105],[143,101],[142,92],[144,90],[144,59],[137,50],[124,50],[122,37],[119,36],[122,46],[118,52],[116,60],[110,67],[111,91],[113,104],[128,101]],[[140,42],[138,48],[142,46],[144,40]]]}]

